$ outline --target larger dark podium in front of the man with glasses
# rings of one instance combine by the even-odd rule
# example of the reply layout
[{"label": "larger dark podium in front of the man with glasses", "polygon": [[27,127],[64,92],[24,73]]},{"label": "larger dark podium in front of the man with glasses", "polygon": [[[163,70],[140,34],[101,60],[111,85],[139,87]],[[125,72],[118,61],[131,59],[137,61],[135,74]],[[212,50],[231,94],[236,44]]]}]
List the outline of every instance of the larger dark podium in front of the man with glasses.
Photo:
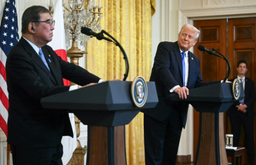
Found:
[{"label": "larger dark podium in front of the man with glasses", "polygon": [[147,82],[148,97],[143,107],[135,107],[130,96],[131,81],[106,81],[79,90],[41,99],[43,108],[68,109],[88,125],[87,165],[126,164],[124,125],[142,108],[158,103],[154,82]]}]

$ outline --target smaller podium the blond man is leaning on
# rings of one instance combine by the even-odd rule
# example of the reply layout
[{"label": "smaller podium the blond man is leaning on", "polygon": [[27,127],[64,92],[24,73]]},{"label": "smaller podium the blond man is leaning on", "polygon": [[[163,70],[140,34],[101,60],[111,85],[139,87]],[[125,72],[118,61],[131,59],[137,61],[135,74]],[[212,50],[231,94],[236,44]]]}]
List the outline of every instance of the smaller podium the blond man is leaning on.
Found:
[{"label": "smaller podium the blond man is leaning on", "polygon": [[[225,135],[224,112],[237,101],[232,96],[232,83],[217,83],[189,90],[186,100],[177,94],[170,95],[173,101],[190,103],[199,114],[199,139],[196,165],[228,164]],[[238,100],[244,98],[243,87]]]}]

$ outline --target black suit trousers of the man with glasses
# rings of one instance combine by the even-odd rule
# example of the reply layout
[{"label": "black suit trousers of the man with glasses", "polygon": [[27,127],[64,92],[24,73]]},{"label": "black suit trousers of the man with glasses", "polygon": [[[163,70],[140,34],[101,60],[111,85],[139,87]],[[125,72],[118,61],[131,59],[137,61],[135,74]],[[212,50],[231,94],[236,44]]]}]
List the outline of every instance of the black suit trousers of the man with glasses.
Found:
[{"label": "black suit trousers of the man with glasses", "polygon": [[13,165],[63,165],[63,146],[26,148],[10,145],[12,149]]}]

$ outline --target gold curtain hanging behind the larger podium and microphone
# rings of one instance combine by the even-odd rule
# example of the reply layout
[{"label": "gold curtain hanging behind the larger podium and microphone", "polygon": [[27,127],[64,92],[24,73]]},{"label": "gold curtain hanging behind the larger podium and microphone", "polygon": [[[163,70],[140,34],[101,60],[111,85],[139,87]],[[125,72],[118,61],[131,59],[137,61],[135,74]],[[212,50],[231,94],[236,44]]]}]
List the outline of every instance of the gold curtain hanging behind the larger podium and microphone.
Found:
[{"label": "gold curtain hanging behind the larger podium and microphone", "polygon": [[[129,60],[132,81],[140,75],[149,81],[151,73],[151,15],[155,0],[105,0],[101,27],[123,46]],[[110,42],[91,38],[87,43],[86,68],[104,80],[123,78],[125,63],[119,48]],[[128,165],[145,164],[143,113],[126,125]]]}]

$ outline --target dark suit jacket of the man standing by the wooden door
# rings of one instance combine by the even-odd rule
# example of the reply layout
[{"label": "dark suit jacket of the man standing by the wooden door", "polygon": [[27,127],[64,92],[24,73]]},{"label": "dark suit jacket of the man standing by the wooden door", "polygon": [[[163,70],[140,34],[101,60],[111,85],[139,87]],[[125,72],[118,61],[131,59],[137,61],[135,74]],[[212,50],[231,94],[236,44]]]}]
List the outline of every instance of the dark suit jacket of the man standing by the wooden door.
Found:
[{"label": "dark suit jacket of the man standing by the wooden door", "polygon": [[[233,78],[229,81],[233,82],[235,79],[237,79],[237,77]],[[255,115],[254,106],[253,106],[254,101],[255,101],[254,82],[252,80],[248,79],[248,78],[245,78],[244,81],[246,82],[246,84],[244,84],[244,95],[245,95],[244,96],[244,104],[247,106],[246,114],[248,116],[253,117]],[[228,108],[227,116],[235,118],[235,117],[239,116],[239,114],[243,113],[241,111],[237,111],[236,106],[238,106],[238,105],[240,105],[239,101],[234,102],[233,105],[230,108]]]}]

